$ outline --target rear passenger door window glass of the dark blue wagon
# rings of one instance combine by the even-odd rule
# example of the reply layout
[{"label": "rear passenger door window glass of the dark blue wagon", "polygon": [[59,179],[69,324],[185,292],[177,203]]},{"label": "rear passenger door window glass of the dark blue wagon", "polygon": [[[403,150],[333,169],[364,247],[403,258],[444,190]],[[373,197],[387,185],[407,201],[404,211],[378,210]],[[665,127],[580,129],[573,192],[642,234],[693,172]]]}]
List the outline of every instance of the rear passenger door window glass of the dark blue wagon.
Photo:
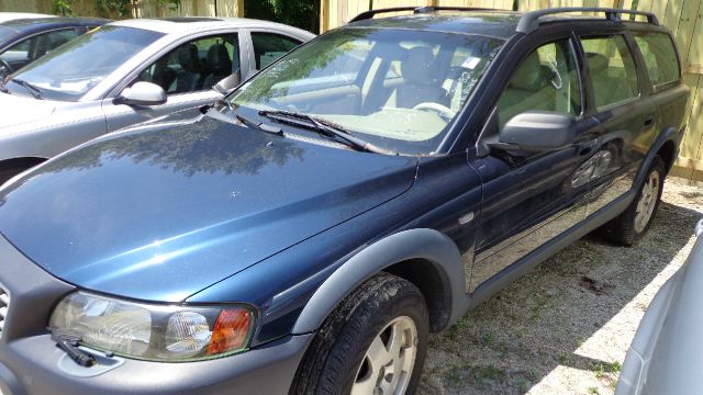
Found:
[{"label": "rear passenger door window glass of the dark blue wagon", "polygon": [[581,43],[599,110],[639,95],[637,69],[624,36],[582,37]]}]

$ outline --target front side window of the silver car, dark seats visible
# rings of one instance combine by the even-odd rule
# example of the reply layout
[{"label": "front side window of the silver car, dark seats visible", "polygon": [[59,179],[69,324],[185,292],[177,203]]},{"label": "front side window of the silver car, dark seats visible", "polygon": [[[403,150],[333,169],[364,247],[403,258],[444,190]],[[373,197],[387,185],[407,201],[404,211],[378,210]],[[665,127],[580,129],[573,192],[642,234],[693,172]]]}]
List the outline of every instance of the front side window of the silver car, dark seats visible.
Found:
[{"label": "front side window of the silver car, dark seats visible", "polygon": [[153,82],[168,94],[212,89],[239,69],[236,34],[198,38],[181,44],[149,65],[137,81]]}]

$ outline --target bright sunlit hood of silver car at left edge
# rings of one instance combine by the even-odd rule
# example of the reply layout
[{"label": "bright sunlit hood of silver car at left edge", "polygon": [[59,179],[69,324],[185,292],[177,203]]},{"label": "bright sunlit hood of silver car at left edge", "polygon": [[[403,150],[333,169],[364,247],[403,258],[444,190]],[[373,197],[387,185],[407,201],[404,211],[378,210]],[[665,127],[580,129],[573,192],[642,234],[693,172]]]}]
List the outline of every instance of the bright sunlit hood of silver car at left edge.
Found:
[{"label": "bright sunlit hood of silver car at left edge", "polygon": [[20,94],[0,93],[0,131],[43,120],[56,111],[57,102]]}]

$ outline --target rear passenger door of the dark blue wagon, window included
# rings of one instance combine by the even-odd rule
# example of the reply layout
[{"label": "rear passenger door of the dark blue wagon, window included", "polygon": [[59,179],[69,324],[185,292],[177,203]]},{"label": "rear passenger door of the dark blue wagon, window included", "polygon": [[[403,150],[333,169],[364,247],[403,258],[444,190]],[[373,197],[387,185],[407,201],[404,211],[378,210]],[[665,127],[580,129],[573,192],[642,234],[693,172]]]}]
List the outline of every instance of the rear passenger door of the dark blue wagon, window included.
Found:
[{"label": "rear passenger door of the dark blue wagon, window included", "polygon": [[580,35],[580,44],[591,111],[604,131],[588,196],[587,215],[591,215],[633,187],[638,165],[655,137],[657,108],[640,83],[643,76],[625,32]]}]

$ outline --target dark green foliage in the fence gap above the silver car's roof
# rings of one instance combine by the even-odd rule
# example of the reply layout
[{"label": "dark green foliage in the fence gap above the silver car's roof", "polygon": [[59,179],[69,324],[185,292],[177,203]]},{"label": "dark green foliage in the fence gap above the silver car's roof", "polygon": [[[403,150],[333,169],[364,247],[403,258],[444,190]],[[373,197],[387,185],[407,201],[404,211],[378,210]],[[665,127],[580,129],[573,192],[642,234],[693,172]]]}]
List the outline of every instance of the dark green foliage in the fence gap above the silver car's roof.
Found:
[{"label": "dark green foliage in the fence gap above the silver car's roof", "polygon": [[245,0],[244,16],[320,31],[320,0]]}]

